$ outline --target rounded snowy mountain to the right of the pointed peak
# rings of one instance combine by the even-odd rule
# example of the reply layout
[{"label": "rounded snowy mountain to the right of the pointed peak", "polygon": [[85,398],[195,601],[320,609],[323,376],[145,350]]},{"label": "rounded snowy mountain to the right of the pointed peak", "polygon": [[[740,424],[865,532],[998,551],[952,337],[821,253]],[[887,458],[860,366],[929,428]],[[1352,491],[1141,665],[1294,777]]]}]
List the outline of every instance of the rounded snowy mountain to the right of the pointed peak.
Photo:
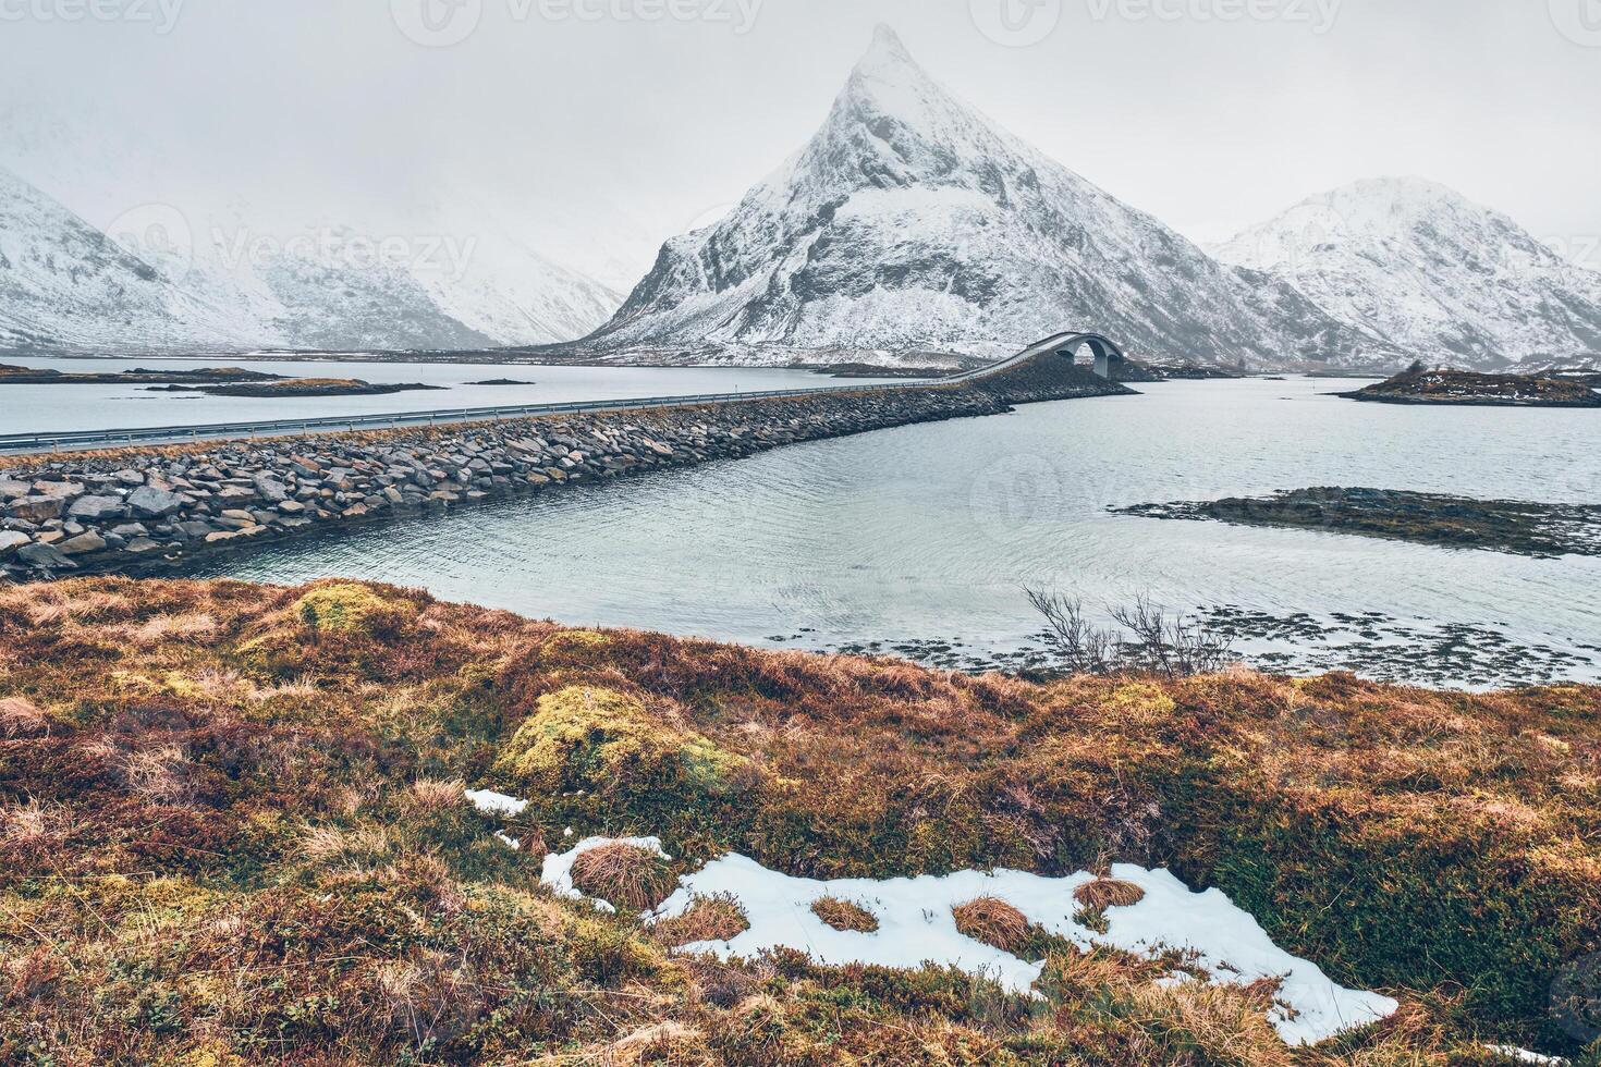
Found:
[{"label": "rounded snowy mountain to the right of the pointed peak", "polygon": [[1491,368],[1601,354],[1601,274],[1433,182],[1345,186],[1214,254],[1279,275],[1425,360]]}]

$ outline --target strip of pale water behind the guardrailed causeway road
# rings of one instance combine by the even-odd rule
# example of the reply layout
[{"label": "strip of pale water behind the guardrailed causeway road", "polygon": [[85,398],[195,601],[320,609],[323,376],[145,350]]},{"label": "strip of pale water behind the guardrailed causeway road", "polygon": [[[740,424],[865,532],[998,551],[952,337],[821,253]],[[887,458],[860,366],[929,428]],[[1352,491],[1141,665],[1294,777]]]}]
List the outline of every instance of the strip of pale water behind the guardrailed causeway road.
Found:
[{"label": "strip of pale water behind the guardrailed causeway road", "polygon": [[[368,382],[421,382],[443,392],[403,392],[387,397],[207,397],[150,392],[142,386],[0,386],[0,432],[104,430],[142,426],[205,426],[248,419],[301,419],[346,414],[395,414],[443,408],[493,408],[570,400],[629,397],[687,397],[765,389],[828,389],[863,379],[833,379],[807,371],[720,368],[596,368],[527,366],[506,363],[355,363],[282,362],[216,357],[213,360],[53,360],[3,357],[0,363],[37,366],[67,374],[106,374],[147,370],[247,366],[287,378],[359,378]],[[471,386],[511,379],[532,386]]]}]

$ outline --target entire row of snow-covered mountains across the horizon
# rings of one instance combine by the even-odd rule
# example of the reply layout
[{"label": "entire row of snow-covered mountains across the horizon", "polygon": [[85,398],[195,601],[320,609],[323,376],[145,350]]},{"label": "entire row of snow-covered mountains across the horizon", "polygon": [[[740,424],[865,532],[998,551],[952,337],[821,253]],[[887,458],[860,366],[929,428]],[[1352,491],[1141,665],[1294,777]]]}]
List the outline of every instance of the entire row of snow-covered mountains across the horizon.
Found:
[{"label": "entire row of snow-covered mountains across the horizon", "polygon": [[[48,157],[27,168],[38,186],[0,168],[0,350],[520,346],[618,363],[956,366],[1077,328],[1161,363],[1601,358],[1601,274],[1449,189],[1358,182],[1202,250],[957,101],[887,27],[800,152],[668,240],[626,301],[538,251],[560,229],[543,216],[562,211],[480,195],[471,176],[365,226],[269,226],[259,203],[224,200],[102,230],[42,187],[90,200],[106,187],[90,176],[115,162],[37,178]],[[580,242],[613,266],[616,243]]]}]

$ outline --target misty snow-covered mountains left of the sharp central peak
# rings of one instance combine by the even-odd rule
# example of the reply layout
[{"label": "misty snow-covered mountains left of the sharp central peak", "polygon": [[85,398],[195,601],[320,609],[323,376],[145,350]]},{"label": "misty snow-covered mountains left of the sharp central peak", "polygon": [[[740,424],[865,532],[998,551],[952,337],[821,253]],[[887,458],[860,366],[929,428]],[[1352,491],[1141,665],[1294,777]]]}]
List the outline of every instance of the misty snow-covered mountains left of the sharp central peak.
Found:
[{"label": "misty snow-covered mountains left of the sharp central peak", "polygon": [[[266,234],[170,208],[106,234],[0,168],[0,349],[482,349],[583,336],[620,296],[506,237]],[[126,230],[126,232],[125,232]]]}]

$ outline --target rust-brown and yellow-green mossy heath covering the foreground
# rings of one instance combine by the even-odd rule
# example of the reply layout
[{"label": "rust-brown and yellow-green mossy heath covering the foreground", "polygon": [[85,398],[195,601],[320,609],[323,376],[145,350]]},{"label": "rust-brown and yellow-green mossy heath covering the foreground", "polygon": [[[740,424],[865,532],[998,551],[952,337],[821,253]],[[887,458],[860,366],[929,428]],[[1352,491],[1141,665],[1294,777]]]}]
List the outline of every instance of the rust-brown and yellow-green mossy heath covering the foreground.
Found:
[{"label": "rust-brown and yellow-green mossy heath covering the foreground", "polygon": [[[0,589],[0,1062],[1446,1065],[1595,1038],[1598,689],[1031,685],[573,633],[351,582]],[[463,784],[530,805],[487,817]],[[540,886],[541,841],[626,833],[823,878],[1167,865],[1404,1008],[1290,1051],[1271,990],[1063,944],[1026,952],[1044,1000],[677,957]]]}]

